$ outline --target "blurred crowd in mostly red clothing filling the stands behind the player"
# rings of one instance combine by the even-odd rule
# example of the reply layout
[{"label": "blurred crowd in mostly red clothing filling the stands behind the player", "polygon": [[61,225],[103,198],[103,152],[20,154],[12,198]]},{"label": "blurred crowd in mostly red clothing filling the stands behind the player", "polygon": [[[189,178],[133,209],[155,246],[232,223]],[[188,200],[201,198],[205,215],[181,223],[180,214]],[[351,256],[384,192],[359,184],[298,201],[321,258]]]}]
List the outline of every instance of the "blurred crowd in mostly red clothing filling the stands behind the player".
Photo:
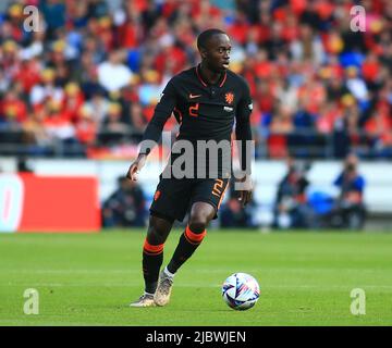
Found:
[{"label": "blurred crowd in mostly red clothing filling the stands behind the player", "polygon": [[[365,32],[351,28],[355,4]],[[1,152],[131,153],[210,27],[230,35],[231,70],[250,86],[256,156],[392,157],[389,0],[3,0]]]}]

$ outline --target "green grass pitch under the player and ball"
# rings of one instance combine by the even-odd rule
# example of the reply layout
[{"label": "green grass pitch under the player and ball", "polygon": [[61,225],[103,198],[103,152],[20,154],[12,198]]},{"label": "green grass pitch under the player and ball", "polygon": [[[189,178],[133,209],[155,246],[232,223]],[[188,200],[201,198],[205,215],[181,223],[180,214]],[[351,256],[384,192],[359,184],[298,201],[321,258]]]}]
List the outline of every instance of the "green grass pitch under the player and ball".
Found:
[{"label": "green grass pitch under the player and ball", "polygon": [[[172,232],[164,263],[176,246]],[[84,234],[0,234],[0,325],[392,325],[392,234],[210,229],[179,271],[163,308],[130,308],[143,289],[140,229]],[[221,284],[254,275],[256,306],[234,311]],[[24,290],[39,314],[23,312]],[[366,291],[353,315],[351,290]]]}]

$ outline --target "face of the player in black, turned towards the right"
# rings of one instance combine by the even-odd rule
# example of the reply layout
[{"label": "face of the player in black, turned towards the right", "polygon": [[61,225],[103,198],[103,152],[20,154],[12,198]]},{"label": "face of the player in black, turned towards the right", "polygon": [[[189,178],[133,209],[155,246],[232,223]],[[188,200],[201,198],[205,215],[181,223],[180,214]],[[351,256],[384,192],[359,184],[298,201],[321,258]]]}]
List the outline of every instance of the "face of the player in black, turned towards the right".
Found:
[{"label": "face of the player in black, turned towards the right", "polygon": [[206,45],[203,58],[208,67],[215,72],[222,72],[229,69],[231,45],[225,34],[213,35]]}]

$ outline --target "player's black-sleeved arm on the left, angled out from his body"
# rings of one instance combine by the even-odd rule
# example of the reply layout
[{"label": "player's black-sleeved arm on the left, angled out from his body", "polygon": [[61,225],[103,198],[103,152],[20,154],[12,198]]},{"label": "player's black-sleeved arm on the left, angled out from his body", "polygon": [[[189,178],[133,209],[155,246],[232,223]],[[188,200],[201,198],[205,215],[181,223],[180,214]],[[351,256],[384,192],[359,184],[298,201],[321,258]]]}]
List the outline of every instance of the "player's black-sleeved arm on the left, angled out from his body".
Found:
[{"label": "player's black-sleeved arm on the left, angled out from his body", "polygon": [[151,121],[148,123],[140,142],[139,153],[137,159],[131,164],[126,177],[131,181],[137,181],[137,174],[145,165],[148,153],[151,152],[155,145],[158,144],[164,124],[169,120],[176,103],[175,88],[173,86],[173,78],[166,86],[161,99],[159,100]]}]

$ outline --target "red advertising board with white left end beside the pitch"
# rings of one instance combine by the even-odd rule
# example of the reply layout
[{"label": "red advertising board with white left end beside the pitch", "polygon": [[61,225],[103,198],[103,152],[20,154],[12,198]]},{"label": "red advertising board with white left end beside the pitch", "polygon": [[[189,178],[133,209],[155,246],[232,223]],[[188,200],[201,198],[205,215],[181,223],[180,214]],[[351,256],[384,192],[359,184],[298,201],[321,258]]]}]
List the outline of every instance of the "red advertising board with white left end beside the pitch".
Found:
[{"label": "red advertising board with white left end beside the pitch", "polygon": [[0,232],[98,232],[95,177],[0,174]]}]

